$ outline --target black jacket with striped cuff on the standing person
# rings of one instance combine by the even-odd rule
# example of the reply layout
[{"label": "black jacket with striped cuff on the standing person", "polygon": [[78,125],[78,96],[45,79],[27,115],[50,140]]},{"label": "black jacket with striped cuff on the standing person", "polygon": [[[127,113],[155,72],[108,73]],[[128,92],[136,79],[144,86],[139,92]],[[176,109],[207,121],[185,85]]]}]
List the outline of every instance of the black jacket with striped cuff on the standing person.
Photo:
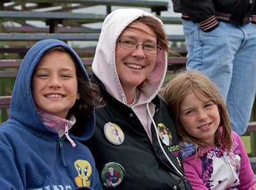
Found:
[{"label": "black jacket with striped cuff on the standing person", "polygon": [[256,24],[255,0],[172,0],[173,10],[192,20],[205,32],[218,27],[217,20],[238,25]]}]

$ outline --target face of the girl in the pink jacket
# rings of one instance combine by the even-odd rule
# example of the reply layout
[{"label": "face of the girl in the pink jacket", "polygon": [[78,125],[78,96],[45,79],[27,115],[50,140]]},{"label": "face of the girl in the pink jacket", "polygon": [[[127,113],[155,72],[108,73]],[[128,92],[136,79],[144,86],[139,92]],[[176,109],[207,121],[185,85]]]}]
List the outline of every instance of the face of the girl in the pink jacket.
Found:
[{"label": "face of the girl in the pink jacket", "polygon": [[204,143],[214,144],[220,126],[218,106],[198,91],[192,91],[180,104],[179,120],[191,136]]}]

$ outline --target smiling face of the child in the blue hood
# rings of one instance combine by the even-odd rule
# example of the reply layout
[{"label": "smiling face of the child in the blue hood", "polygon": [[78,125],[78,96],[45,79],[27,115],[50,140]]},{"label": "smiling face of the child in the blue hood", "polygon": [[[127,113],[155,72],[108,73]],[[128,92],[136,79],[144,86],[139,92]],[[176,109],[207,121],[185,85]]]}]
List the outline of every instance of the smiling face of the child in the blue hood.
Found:
[{"label": "smiling face of the child in the blue hood", "polygon": [[54,50],[43,55],[36,65],[32,82],[32,96],[37,108],[66,118],[77,93],[76,67],[67,52]]}]

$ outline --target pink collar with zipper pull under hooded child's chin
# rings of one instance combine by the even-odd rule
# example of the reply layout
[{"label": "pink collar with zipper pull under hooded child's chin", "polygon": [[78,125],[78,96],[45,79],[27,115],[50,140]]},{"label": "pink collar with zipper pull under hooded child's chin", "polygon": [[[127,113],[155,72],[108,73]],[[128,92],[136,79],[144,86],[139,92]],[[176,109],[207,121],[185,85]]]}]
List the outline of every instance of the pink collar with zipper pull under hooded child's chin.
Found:
[{"label": "pink collar with zipper pull under hooded child's chin", "polygon": [[40,118],[44,122],[45,126],[48,126],[49,128],[57,131],[60,138],[65,134],[65,136],[67,137],[69,142],[72,144],[72,146],[76,147],[76,143],[68,135],[68,130],[71,129],[72,126],[76,123],[76,117],[74,117],[74,115],[72,115],[70,117],[70,121],[68,121],[67,119],[63,119],[56,115],[52,115],[50,113],[44,112],[39,108],[36,108],[36,110]]}]

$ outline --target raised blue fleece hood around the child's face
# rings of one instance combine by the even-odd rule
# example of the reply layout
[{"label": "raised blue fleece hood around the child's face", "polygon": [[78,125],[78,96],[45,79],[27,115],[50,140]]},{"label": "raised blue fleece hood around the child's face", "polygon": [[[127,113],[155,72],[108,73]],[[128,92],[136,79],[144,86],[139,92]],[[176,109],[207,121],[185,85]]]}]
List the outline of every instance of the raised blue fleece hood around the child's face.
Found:
[{"label": "raised blue fleece hood around the child's face", "polygon": [[[54,47],[64,47],[66,48],[76,59],[75,64],[79,64],[80,68],[84,72],[84,76],[90,82],[89,77],[84,69],[83,63],[79,56],[70,48],[67,43],[64,43],[60,40],[42,40],[38,41],[33,47],[31,47],[24,57],[20,68],[19,73],[17,75],[13,92],[12,99],[10,105],[10,116],[12,119],[15,119],[22,124],[34,128],[39,131],[43,131],[46,133],[54,133],[54,135],[58,135],[56,131],[44,125],[38,112],[36,111],[36,106],[33,101],[32,93],[31,93],[31,77],[33,74],[33,70],[35,69],[36,64],[40,61],[40,58],[44,53],[50,48]],[[54,64],[54,63],[52,63]],[[79,126],[74,126],[76,128],[80,128],[78,135],[73,135],[69,133],[72,139],[76,140],[88,140],[92,135],[95,128],[95,115],[94,110],[93,114],[89,119],[84,117],[84,121],[79,122]]]}]

